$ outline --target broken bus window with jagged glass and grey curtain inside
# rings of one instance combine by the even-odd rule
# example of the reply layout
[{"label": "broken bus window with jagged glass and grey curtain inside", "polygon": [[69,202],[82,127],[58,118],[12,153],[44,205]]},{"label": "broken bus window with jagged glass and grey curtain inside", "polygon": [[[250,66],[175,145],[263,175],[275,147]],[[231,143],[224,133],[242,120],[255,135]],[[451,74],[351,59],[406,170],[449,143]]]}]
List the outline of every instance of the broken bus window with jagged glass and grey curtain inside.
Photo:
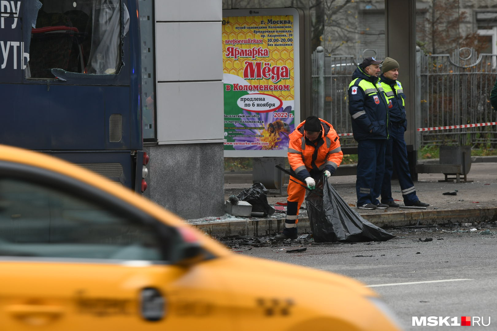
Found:
[{"label": "broken bus window with jagged glass and grey curtain inside", "polygon": [[[33,1],[34,2],[34,1]],[[129,14],[120,0],[41,0],[31,29],[26,78],[57,71],[115,74]],[[56,71],[54,71],[56,70]]]}]

